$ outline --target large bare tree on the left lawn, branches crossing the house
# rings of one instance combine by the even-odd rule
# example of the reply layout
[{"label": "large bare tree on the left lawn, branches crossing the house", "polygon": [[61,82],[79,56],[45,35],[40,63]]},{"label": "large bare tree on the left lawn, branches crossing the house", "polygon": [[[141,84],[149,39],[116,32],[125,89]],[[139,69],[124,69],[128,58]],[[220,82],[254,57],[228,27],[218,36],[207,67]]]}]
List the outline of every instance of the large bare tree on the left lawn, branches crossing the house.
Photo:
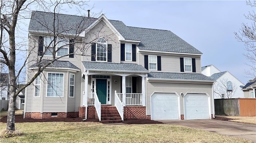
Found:
[{"label": "large bare tree on the left lawn, branches crossing the house", "polygon": [[[29,35],[29,40],[26,39],[25,43],[29,45],[16,43],[17,29],[20,26],[17,24],[19,20],[24,18],[29,18],[31,15],[30,6],[36,6],[41,8],[44,12],[51,12],[50,17],[49,13],[39,15],[32,15],[30,20],[35,20],[39,26],[37,31],[32,31],[35,34]],[[33,84],[34,80],[38,75],[43,74],[46,67],[51,66],[52,63],[66,56],[88,56],[87,48],[91,46],[91,43],[95,43],[98,39],[99,31],[94,34],[93,37],[84,40],[83,33],[86,32],[88,25],[92,22],[98,20],[96,18],[88,18],[84,15],[79,17],[79,20],[76,22],[68,23],[67,21],[62,21],[60,11],[65,11],[63,6],[67,5],[69,8],[72,8],[72,11],[77,10],[78,14],[82,15],[82,12],[85,10],[86,2],[78,0],[58,0],[58,1],[41,1],[34,0],[27,2],[26,0],[1,0],[0,4],[0,21],[1,21],[1,35],[0,35],[0,64],[6,65],[7,71],[10,76],[9,86],[10,86],[10,97],[9,97],[9,107],[8,107],[8,117],[7,117],[7,127],[6,130],[13,132],[15,131],[15,102],[18,94],[30,84]],[[87,12],[87,11],[86,11]],[[94,14],[95,16],[96,14]],[[40,18],[38,18],[40,17]],[[49,21],[51,22],[49,24]],[[104,26],[104,25],[103,25]],[[103,27],[102,27],[103,28]],[[44,37],[50,37],[50,40],[47,41],[47,45],[44,44],[44,50],[38,50],[38,43],[41,42],[42,37],[37,36],[40,33],[40,30],[44,29],[47,33],[44,33]],[[102,31],[104,32],[104,31]],[[106,35],[105,39],[110,40],[110,35]],[[64,55],[56,56],[58,51],[61,51],[66,46],[73,45],[74,51],[72,53],[67,53]],[[24,47],[27,47],[25,49]],[[16,54],[20,51],[26,53],[24,57],[24,63],[20,64],[17,67],[16,63]],[[50,57],[46,57],[45,55]],[[91,55],[90,55],[91,56]],[[32,64],[34,63],[34,64]],[[33,65],[34,73],[32,76],[27,76],[28,79],[23,84],[23,86],[18,87],[20,82],[19,77],[22,75],[25,68],[29,68]],[[28,69],[27,69],[28,70]]]}]

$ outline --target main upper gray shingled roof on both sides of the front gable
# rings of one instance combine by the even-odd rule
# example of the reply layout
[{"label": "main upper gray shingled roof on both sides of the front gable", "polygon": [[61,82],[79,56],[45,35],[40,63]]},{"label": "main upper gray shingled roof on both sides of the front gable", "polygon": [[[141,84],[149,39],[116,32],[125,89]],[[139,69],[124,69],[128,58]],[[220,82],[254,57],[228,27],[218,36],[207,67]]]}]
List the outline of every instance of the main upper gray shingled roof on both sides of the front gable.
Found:
[{"label": "main upper gray shingled roof on both sides of the front gable", "polygon": [[[53,16],[54,14],[49,12],[32,11],[28,31],[48,33],[49,29],[53,30]],[[55,16],[61,22],[61,24],[56,26],[56,29],[59,31],[69,29],[68,31],[65,31],[65,34],[79,34],[79,32],[77,33],[77,28],[74,25],[78,25],[82,22],[79,27],[79,31],[81,32],[95,20],[98,20],[97,18],[72,16],[66,14],[55,14]],[[141,41],[141,43],[138,45],[140,50],[202,54],[198,49],[194,48],[192,45],[171,31],[129,27],[126,26],[122,21],[109,21],[126,40]],[[47,27],[43,26],[42,23],[43,25],[47,25]]]}]

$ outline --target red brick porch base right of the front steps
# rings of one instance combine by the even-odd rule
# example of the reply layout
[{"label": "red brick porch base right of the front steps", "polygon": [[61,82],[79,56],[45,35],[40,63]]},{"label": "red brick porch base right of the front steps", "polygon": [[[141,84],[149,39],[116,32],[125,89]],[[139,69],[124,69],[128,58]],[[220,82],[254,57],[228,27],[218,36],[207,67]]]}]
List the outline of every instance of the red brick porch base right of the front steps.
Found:
[{"label": "red brick porch base right of the front steps", "polygon": [[146,115],[146,106],[124,106],[124,119],[151,119]]}]

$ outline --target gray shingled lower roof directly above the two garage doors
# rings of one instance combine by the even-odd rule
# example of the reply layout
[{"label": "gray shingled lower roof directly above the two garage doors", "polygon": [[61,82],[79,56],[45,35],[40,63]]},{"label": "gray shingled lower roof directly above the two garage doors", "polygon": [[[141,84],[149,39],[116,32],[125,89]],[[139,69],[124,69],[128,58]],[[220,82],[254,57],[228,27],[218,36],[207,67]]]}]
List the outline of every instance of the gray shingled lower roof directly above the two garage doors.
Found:
[{"label": "gray shingled lower roof directly above the two garage doors", "polygon": [[175,80],[206,80],[212,81],[212,78],[205,76],[204,74],[193,73],[169,73],[169,72],[150,72],[148,78],[160,78],[160,79],[175,79]]}]

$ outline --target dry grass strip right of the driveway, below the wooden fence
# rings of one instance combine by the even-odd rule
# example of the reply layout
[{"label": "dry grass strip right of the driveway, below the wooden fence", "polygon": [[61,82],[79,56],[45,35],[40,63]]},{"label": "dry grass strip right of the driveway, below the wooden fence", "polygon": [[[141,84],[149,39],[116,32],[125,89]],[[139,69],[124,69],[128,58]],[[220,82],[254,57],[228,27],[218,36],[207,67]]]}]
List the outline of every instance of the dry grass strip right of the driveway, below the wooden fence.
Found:
[{"label": "dry grass strip right of the driveway, below the wooden fence", "polygon": [[219,116],[216,115],[216,117],[223,117],[223,118],[231,118],[231,120],[228,121],[234,121],[239,123],[250,123],[256,125],[256,117],[239,117],[239,116]]}]

